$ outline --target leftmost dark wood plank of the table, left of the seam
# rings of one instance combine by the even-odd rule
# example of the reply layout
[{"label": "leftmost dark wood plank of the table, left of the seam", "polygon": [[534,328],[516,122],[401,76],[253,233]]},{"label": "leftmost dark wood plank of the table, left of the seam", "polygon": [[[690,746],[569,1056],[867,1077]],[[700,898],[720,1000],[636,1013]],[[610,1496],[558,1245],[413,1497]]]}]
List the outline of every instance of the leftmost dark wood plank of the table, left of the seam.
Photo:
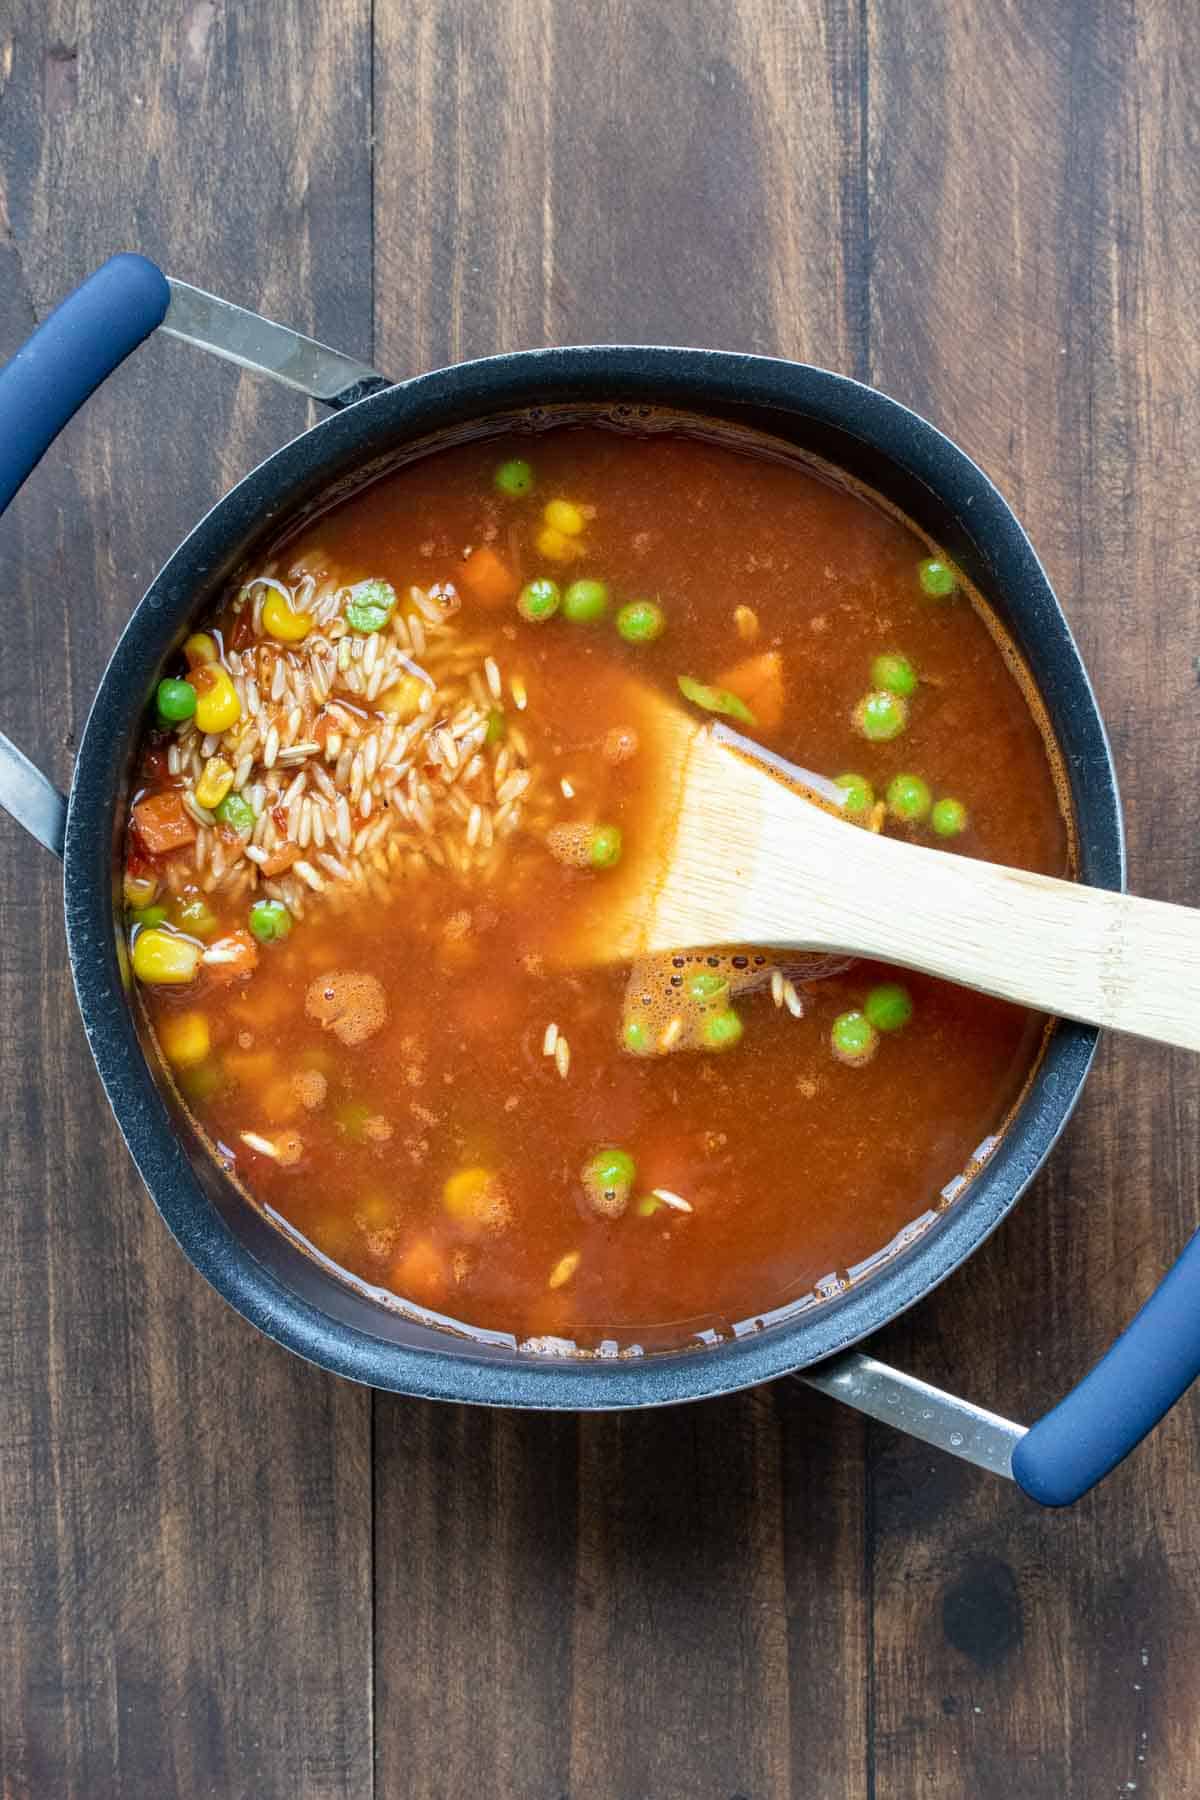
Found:
[{"label": "leftmost dark wood plank of the table, left of the seam", "polygon": [[[365,4],[18,0],[0,86],[4,355],[124,247],[371,347]],[[59,779],[155,567],[304,423],[151,342],[0,524],[0,718]],[[83,1042],[58,871],[7,823],[0,853],[0,1793],[362,1800],[367,1397],[169,1242]]]}]

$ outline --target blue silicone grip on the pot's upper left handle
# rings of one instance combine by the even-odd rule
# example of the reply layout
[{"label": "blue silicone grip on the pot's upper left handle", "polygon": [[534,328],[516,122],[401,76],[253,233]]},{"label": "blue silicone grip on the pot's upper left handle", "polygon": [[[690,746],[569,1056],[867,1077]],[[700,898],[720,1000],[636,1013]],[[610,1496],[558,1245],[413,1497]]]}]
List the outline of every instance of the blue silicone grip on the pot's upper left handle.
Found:
[{"label": "blue silicone grip on the pot's upper left handle", "polygon": [[0,513],[67,419],[162,324],[169,299],[144,256],[113,256],[0,369]]}]

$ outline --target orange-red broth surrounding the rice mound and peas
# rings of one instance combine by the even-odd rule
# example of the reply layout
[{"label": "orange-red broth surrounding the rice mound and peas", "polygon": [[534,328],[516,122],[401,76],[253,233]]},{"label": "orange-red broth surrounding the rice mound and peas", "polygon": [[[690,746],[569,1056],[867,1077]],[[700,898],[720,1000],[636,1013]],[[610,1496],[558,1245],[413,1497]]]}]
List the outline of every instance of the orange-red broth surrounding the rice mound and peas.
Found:
[{"label": "orange-red broth surrounding the rice mound and peas", "polygon": [[[529,493],[498,491],[495,472],[511,459],[531,464]],[[583,518],[567,549],[543,536],[556,499]],[[471,547],[484,556],[475,576]],[[772,994],[766,958],[757,983],[732,994],[736,1044],[635,1055],[622,1044],[628,972],[554,970],[545,959],[581,884],[606,873],[560,860],[547,832],[603,821],[628,844],[655,805],[637,751],[613,760],[610,733],[626,724],[619,677],[630,671],[678,698],[680,675],[720,684],[747,657],[777,653],[779,718],[739,729],[829,776],[862,774],[878,796],[916,772],[934,797],[966,808],[946,853],[1069,873],[1061,781],[1036,702],[961,580],[948,598],[923,590],[928,556],[910,526],[795,461],[596,427],[441,450],[293,536],[272,563],[284,581],[299,565],[326,585],[381,578],[398,612],[414,583],[450,589],[461,601],[453,628],[500,673],[502,702],[488,695],[502,713],[493,729],[524,733],[534,778],[520,828],[482,873],[419,868],[419,851],[414,862],[405,850],[372,887],[308,893],[290,934],[254,947],[252,972],[219,979],[219,965],[200,963],[185,985],[142,985],[167,1055],[171,1021],[203,1015],[207,1048],[200,1057],[191,1046],[176,1080],[250,1195],[405,1301],[581,1348],[675,1346],[833,1291],[946,1204],[943,1190],[1020,1096],[1040,1017],[865,963],[804,981],[784,961],[795,1017],[775,1004],[781,983]],[[515,589],[538,576],[561,590],[603,580],[606,616],[572,623],[560,607],[529,623]],[[626,643],[615,628],[633,598],[662,608],[653,643]],[[272,641],[254,632],[250,603],[239,605],[230,596],[216,621],[225,652]],[[882,652],[901,652],[919,686],[907,729],[867,742],[855,709]],[[354,704],[363,720],[376,711]],[[302,729],[322,736],[320,707]],[[135,801],[185,787],[169,769],[171,742],[148,734]],[[324,767],[336,774],[335,760]],[[295,765],[270,772],[268,799],[293,776]],[[470,815],[457,817],[466,830]],[[887,817],[883,830],[939,842],[928,821]],[[396,832],[419,846],[419,832]],[[194,855],[130,833],[130,869],[158,884],[167,932],[180,896],[203,889]],[[214,923],[198,941],[209,945],[245,932],[261,891],[228,830],[223,855],[239,862],[243,887],[203,896]],[[286,878],[295,882],[295,866]],[[320,999],[317,1012],[309,1004],[329,972],[367,972],[381,988],[383,1022],[360,1042],[340,1039]],[[838,1060],[833,1021],[887,981],[909,992],[910,1021],[880,1033],[869,1060]],[[569,1044],[565,1073],[567,1058],[545,1053],[551,1026]],[[597,1208],[585,1168],[603,1147],[628,1152],[635,1175]]]}]

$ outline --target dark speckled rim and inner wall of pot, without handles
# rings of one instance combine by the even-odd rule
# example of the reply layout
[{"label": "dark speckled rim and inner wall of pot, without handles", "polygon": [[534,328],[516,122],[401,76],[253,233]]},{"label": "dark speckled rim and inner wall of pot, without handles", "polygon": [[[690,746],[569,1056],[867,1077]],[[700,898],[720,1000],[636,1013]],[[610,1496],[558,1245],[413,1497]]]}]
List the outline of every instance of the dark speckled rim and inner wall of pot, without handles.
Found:
[{"label": "dark speckled rim and inner wall of pot, without handles", "polygon": [[[371,1330],[372,1316],[380,1328],[385,1319],[394,1325],[390,1310],[365,1305],[362,1318],[347,1323],[270,1269],[264,1258],[279,1260],[286,1240],[261,1215],[261,1229],[248,1220],[243,1220],[246,1229],[232,1229],[189,1161],[142,1053],[113,931],[119,770],[124,770],[158,662],[171,641],[182,637],[201,585],[230,563],[230,545],[277,529],[295,513],[297,491],[317,493],[322,482],[327,486],[356,463],[360,468],[371,464],[383,445],[396,450],[405,443],[419,445],[439,421],[482,421],[507,410],[529,414],[572,401],[613,409],[666,405],[709,419],[736,419],[752,409],[793,414],[869,446],[934,495],[963,527],[981,585],[1011,603],[1020,617],[1020,648],[1051,713],[1072,781],[1079,877],[1092,886],[1124,886],[1112,754],[1045,571],[1011,508],[979,466],[934,425],[878,389],[810,364],[732,351],[669,346],[513,351],[383,389],[275,450],[210,508],[164,563],[101,677],[79,740],[67,812],[68,954],[85,1031],[119,1129],[189,1260],[236,1310],[295,1354],[335,1373],[423,1399],[579,1409],[658,1406],[752,1386],[849,1348],[925,1298],[1000,1224],[1063,1130],[1097,1040],[1088,1026],[1054,1026],[1042,1064],[984,1168],[905,1249],[835,1298],[712,1346],[644,1357],[560,1359],[497,1352],[450,1334],[396,1343]],[[770,430],[770,425],[759,428]],[[1031,646],[1036,646],[1033,655]],[[291,1255],[311,1274],[309,1260],[295,1249]]]}]

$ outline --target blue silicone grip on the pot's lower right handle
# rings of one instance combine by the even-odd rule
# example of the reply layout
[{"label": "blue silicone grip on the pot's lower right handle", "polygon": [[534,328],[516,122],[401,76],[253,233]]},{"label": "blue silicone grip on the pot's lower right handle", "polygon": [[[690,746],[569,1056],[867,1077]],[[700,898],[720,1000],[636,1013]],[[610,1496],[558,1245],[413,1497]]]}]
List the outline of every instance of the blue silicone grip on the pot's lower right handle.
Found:
[{"label": "blue silicone grip on the pot's lower right handle", "polygon": [[1069,1507],[1159,1424],[1200,1375],[1200,1231],[1112,1350],[1013,1451],[1013,1478]]}]

